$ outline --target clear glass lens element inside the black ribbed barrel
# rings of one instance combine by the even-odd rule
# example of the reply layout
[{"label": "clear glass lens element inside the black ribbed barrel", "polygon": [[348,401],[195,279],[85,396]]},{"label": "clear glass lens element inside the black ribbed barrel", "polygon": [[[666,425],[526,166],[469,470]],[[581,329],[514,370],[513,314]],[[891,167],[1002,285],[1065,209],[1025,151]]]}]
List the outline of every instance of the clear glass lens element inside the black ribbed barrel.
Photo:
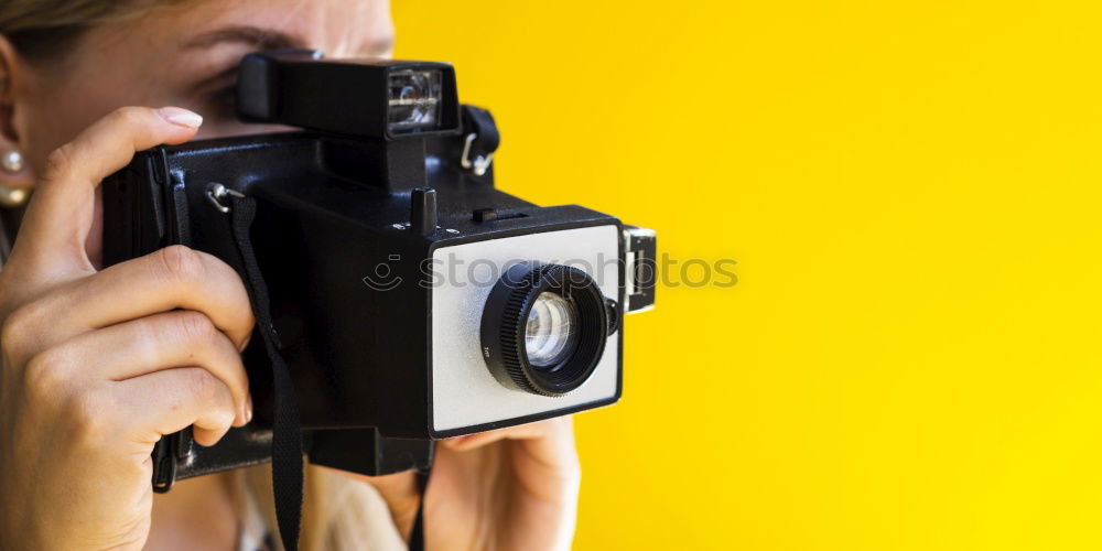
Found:
[{"label": "clear glass lens element inside the black ribbed barrel", "polygon": [[525,348],[528,363],[547,369],[562,363],[577,347],[577,307],[550,291],[532,303],[526,324]]}]

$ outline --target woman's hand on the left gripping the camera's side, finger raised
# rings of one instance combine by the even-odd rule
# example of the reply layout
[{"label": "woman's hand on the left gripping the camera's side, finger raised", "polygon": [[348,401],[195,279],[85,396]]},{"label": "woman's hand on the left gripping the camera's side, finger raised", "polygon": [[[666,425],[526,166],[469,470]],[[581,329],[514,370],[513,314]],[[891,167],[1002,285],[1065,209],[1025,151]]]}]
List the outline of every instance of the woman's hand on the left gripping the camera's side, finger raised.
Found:
[{"label": "woman's hand on the left gripping the camera's side, finger raised", "polygon": [[201,121],[128,107],[50,156],[0,270],[0,548],[140,549],[154,443],[251,418],[234,269],[174,246],[98,271],[86,252],[100,180]]}]

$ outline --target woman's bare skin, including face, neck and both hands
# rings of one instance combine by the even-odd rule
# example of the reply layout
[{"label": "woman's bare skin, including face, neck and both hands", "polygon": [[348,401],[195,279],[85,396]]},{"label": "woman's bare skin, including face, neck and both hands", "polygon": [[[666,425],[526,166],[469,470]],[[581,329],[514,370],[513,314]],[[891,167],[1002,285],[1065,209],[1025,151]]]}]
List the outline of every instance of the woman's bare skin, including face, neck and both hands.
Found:
[{"label": "woman's bare skin, including face, neck and both hands", "polygon": [[[264,32],[226,32],[242,25]],[[46,64],[0,37],[0,150],[28,160],[0,185],[34,188],[0,270],[3,545],[234,548],[239,519],[217,477],[154,497],[149,454],[162,434],[194,425],[209,445],[251,419],[245,288],[183,247],[100,269],[97,185],[142,149],[272,130],[233,119],[226,90],[244,54],[386,56],[392,36],[382,1],[251,0],[105,23]],[[379,489],[408,537],[412,474],[348,476]],[[569,548],[579,482],[568,418],[446,441],[425,496],[428,547]]]}]

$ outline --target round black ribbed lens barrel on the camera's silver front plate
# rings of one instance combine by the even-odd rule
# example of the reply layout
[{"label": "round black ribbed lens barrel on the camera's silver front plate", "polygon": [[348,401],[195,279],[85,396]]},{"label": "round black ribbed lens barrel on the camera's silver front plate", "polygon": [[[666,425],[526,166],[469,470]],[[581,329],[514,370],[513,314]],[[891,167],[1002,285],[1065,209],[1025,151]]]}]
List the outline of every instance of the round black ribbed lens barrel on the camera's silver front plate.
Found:
[{"label": "round black ribbed lens barrel on the camera's silver front plate", "polygon": [[505,386],[562,396],[593,375],[616,324],[597,283],[577,268],[516,264],[486,300],[483,357]]}]

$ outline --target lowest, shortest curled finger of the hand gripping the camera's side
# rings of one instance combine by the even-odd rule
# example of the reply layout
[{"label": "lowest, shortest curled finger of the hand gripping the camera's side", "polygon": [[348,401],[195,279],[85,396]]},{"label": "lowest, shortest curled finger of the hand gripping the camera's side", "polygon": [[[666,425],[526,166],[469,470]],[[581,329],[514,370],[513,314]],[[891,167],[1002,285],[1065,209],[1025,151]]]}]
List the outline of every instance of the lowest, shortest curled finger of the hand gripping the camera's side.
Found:
[{"label": "lowest, shortest curled finger of the hand gripping the camera's side", "polygon": [[164,369],[114,385],[133,412],[133,436],[143,444],[193,426],[195,442],[209,446],[234,423],[229,388],[201,367]]}]

